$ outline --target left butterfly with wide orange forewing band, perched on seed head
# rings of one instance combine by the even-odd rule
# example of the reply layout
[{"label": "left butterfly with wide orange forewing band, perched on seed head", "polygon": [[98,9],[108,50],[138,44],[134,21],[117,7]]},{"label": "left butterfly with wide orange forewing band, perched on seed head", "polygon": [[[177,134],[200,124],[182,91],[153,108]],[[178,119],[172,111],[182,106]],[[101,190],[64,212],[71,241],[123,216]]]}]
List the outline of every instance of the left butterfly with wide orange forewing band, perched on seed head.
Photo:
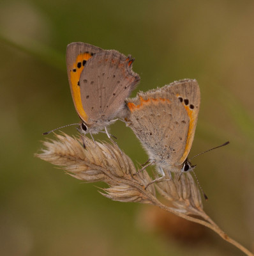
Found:
[{"label": "left butterfly with wide orange forewing band, perched on seed head", "polygon": [[67,46],[71,95],[84,134],[92,136],[105,129],[110,138],[107,126],[126,115],[124,100],[140,81],[132,70],[133,61],[130,55],[82,42]]}]

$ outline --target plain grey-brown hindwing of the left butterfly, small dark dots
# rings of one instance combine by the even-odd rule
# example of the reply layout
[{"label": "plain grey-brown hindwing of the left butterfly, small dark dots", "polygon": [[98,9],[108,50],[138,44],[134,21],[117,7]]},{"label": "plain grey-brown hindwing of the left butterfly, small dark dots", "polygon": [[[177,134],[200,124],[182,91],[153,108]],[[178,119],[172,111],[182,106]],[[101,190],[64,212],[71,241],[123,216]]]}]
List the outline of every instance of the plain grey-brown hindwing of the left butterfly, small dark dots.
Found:
[{"label": "plain grey-brown hindwing of the left butterfly, small dark dots", "polygon": [[87,61],[80,76],[80,93],[92,122],[108,122],[124,108],[124,100],[140,80],[132,63],[131,56],[114,50],[100,52]]}]

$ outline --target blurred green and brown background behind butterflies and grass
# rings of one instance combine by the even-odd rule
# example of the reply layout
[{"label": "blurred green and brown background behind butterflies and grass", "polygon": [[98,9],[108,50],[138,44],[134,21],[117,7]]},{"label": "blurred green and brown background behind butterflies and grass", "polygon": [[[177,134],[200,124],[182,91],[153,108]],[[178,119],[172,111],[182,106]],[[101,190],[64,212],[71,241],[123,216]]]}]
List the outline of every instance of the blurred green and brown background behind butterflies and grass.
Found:
[{"label": "blurred green and brown background behind butterflies and grass", "polygon": [[[79,41],[135,57],[142,80],[131,96],[198,80],[190,156],[230,141],[193,161],[204,209],[254,250],[253,11],[253,1],[1,0],[1,255],[243,255],[210,230],[193,237],[200,227],[181,230],[181,220],[163,230],[154,207],[112,202],[33,156],[42,132],[79,122],[65,63],[66,45]],[[110,131],[134,163],[147,160],[124,124]]]}]

